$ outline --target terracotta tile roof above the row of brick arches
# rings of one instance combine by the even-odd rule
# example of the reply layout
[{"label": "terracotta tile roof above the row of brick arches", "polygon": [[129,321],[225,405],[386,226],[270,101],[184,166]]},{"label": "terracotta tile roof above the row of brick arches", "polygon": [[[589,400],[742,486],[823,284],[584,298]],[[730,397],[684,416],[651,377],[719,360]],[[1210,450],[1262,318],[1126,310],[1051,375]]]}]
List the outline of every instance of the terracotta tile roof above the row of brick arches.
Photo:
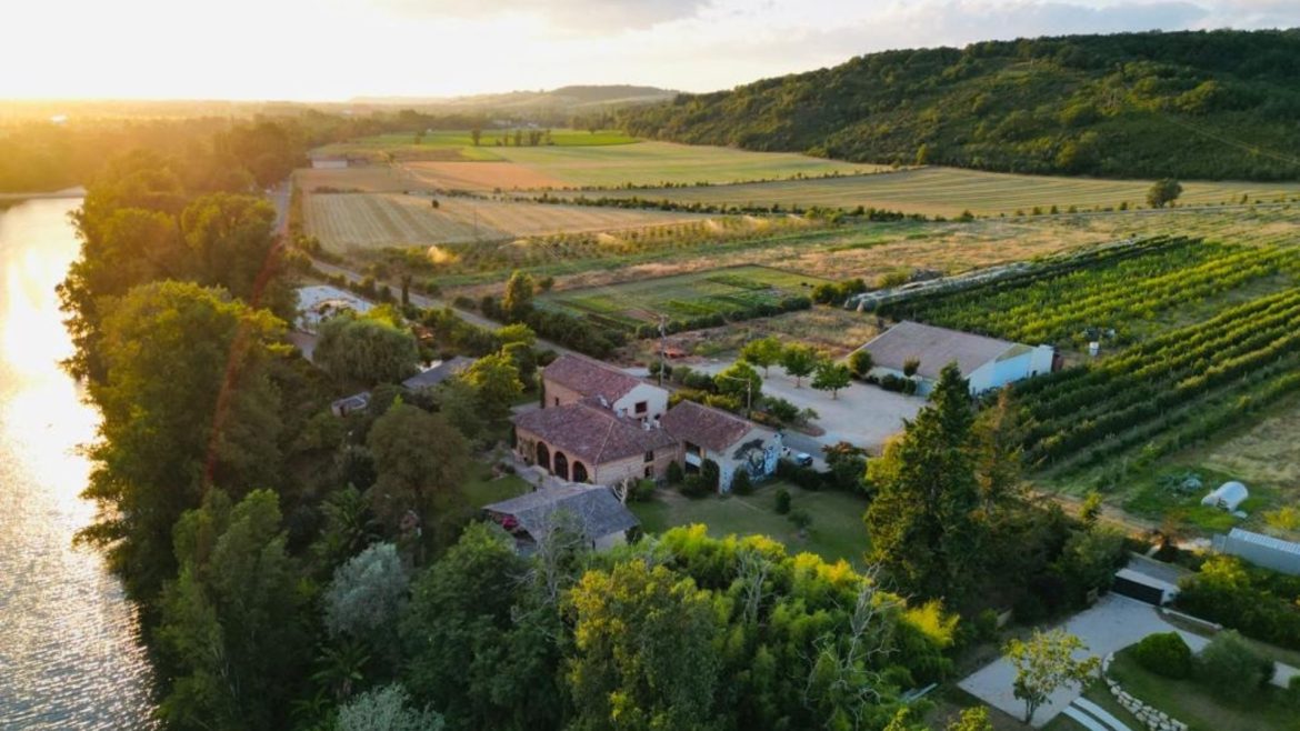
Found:
[{"label": "terracotta tile roof above the row of brick arches", "polygon": [[676,445],[663,429],[646,429],[636,419],[620,419],[608,408],[585,401],[525,411],[514,421],[516,428],[550,444],[552,451],[564,451],[589,467]]}]

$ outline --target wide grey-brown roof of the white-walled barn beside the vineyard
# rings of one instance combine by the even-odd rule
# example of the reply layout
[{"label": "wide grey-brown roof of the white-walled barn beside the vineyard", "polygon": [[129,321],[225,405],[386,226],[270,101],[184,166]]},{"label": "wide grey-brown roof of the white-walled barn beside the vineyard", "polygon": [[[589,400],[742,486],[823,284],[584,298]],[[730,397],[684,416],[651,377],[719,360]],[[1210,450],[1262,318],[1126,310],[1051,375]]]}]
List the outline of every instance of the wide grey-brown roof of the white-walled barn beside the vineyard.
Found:
[{"label": "wide grey-brown roof of the white-walled barn beside the vineyard", "polygon": [[1004,339],[904,321],[880,333],[861,350],[871,354],[871,360],[893,371],[902,371],[904,364],[915,358],[920,360],[916,371],[926,379],[937,379],[944,366],[953,360],[970,376],[976,368],[996,360],[1011,349],[1024,347]]}]

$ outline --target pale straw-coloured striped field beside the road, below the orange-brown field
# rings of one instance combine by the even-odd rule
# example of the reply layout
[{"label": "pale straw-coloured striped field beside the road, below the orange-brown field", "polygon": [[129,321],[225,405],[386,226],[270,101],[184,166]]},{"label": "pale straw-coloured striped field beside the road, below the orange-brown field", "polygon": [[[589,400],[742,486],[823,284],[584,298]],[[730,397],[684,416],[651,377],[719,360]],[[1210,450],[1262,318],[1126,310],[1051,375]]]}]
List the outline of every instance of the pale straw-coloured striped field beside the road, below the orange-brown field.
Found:
[{"label": "pale straw-coloured striped field beside the road, below the orange-brown field", "polygon": [[500,241],[555,232],[595,232],[698,220],[689,213],[620,211],[472,198],[316,194],[306,200],[307,233],[330,251]]}]

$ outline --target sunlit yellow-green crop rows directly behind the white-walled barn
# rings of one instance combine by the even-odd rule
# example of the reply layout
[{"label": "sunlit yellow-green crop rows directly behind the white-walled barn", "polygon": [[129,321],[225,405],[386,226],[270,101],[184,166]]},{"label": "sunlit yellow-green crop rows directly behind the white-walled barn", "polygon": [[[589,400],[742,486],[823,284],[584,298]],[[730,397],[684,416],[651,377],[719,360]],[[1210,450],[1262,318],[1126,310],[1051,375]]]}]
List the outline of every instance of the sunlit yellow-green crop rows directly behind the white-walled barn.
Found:
[{"label": "sunlit yellow-green crop rows directly behind the white-walled barn", "polygon": [[1300,272],[1294,248],[1154,238],[1093,256],[1039,264],[1024,273],[881,307],[894,317],[1026,343],[1082,346],[1101,332],[1132,342],[1143,323]]}]

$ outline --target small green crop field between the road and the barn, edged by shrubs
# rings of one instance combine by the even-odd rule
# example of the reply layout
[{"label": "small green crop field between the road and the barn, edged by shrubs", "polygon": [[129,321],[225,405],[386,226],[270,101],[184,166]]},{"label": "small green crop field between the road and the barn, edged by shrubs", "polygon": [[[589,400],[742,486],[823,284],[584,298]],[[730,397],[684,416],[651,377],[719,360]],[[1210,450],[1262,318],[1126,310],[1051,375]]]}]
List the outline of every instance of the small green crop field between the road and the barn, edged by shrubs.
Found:
[{"label": "small green crop field between the road and the barn, edged by shrubs", "polygon": [[731,267],[675,277],[658,277],[612,286],[549,294],[541,302],[602,321],[633,328],[656,321],[725,315],[759,303],[806,295],[826,280],[768,267]]}]

